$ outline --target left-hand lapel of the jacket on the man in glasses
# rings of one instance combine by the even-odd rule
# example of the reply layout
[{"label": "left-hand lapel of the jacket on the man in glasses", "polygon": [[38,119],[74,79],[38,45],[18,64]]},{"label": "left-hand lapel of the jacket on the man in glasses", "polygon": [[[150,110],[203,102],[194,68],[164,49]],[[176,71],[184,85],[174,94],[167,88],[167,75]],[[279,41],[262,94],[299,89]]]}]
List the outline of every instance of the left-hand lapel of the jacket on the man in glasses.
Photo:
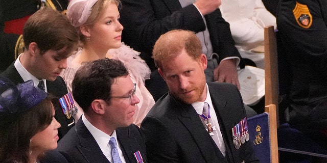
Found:
[{"label": "left-hand lapel of the jacket on the man in glasses", "polygon": [[93,138],[92,134],[85,127],[82,119],[79,119],[77,122],[75,131],[77,132],[80,140],[80,144],[77,145],[77,148],[85,157],[87,162],[110,163],[106,156],[102,153],[98,143]]}]

